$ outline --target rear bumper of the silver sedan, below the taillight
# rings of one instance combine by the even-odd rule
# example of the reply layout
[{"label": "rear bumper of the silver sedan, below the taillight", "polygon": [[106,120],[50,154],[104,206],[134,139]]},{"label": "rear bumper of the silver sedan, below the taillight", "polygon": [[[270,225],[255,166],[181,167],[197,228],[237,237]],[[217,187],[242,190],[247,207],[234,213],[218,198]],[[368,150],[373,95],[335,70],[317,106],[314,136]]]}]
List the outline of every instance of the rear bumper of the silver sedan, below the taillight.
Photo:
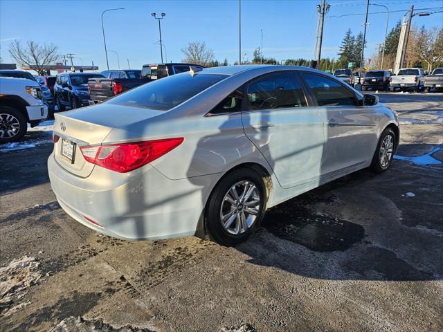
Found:
[{"label": "rear bumper of the silver sedan, below the taillight", "polygon": [[[96,166],[89,177],[80,178],[61,167],[53,154],[48,158],[48,174],[57,201],[83,225],[127,240],[195,234],[206,202],[204,187],[188,178],[170,180],[151,165],[130,173]],[[213,177],[199,178],[211,183]]]}]

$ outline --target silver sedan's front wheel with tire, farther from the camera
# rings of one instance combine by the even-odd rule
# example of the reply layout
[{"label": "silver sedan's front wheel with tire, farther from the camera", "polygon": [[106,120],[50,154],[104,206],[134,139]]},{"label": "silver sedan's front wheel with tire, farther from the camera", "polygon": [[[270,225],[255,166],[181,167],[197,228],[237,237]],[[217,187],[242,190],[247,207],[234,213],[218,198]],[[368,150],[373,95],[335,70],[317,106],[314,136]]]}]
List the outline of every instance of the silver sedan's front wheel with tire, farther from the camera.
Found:
[{"label": "silver sedan's front wheel with tire, farther from the camera", "polygon": [[394,158],[394,151],[396,147],[395,133],[391,128],[386,128],[381,133],[377,149],[375,149],[374,156],[370,168],[375,173],[383,173],[389,168]]}]

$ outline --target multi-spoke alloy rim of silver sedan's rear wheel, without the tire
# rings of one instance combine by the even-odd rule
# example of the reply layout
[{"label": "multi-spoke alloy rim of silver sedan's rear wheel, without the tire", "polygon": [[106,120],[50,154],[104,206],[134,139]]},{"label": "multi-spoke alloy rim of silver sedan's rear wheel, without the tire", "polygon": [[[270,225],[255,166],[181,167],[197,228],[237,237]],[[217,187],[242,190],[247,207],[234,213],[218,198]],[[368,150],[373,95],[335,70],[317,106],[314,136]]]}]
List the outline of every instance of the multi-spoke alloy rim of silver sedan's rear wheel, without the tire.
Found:
[{"label": "multi-spoke alloy rim of silver sedan's rear wheel, without the tire", "polygon": [[226,192],[220,208],[220,221],[226,232],[246,232],[259,214],[260,192],[254,183],[239,181]]}]

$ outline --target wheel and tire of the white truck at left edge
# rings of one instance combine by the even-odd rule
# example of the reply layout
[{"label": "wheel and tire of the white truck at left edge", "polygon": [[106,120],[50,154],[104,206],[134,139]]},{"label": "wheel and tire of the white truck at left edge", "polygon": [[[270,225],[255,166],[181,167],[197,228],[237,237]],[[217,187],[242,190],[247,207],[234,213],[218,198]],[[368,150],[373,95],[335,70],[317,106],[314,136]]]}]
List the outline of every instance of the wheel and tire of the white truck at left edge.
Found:
[{"label": "wheel and tire of the white truck at left edge", "polygon": [[0,107],[0,144],[15,142],[28,130],[25,116],[17,109]]}]

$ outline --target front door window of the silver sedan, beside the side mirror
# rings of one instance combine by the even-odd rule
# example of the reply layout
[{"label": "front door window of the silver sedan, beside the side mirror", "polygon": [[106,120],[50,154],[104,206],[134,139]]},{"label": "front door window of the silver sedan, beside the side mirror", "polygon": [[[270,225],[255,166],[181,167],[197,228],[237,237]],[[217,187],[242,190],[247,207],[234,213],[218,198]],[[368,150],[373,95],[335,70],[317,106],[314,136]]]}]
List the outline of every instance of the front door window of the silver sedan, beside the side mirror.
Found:
[{"label": "front door window of the silver sedan, beside the side mirror", "polygon": [[339,82],[310,73],[302,73],[303,80],[314,94],[318,106],[356,105],[356,98],[352,91]]}]

